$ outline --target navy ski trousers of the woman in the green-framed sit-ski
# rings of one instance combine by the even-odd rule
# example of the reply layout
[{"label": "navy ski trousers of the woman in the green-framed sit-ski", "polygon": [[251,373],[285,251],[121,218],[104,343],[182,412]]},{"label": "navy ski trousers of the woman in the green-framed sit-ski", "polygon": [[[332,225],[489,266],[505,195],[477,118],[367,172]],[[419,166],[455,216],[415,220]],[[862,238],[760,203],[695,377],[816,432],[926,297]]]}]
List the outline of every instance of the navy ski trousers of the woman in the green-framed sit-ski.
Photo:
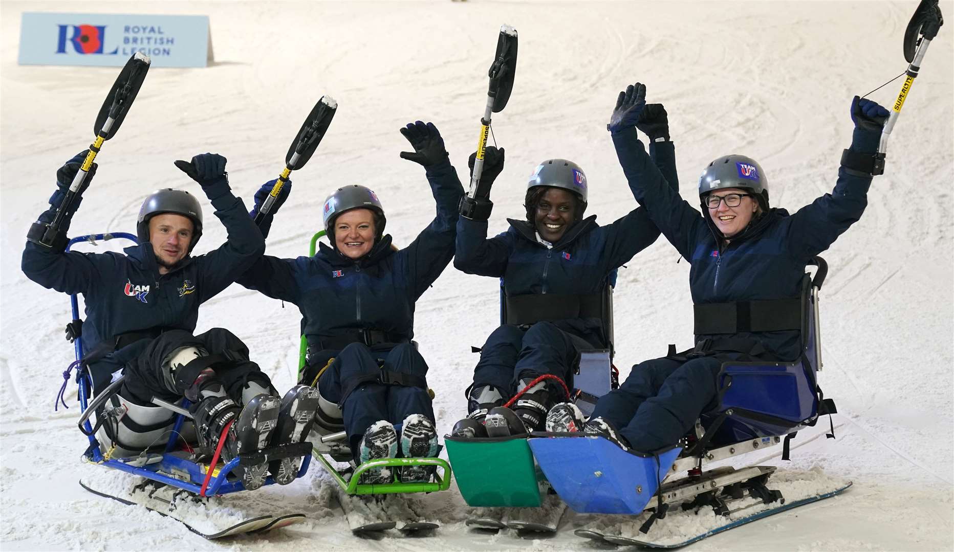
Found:
[{"label": "navy ski trousers of the woman in the green-framed sit-ski", "polygon": [[425,378],[427,362],[412,343],[388,344],[384,348],[351,343],[333,356],[335,360],[321,375],[318,386],[321,397],[341,405],[344,431],[352,451],[358,450],[364,432],[378,420],[386,419],[397,425],[411,414],[423,414],[435,421],[426,386],[411,387],[370,380],[363,381],[347,397],[342,397],[350,382],[380,374],[381,370]]}]

